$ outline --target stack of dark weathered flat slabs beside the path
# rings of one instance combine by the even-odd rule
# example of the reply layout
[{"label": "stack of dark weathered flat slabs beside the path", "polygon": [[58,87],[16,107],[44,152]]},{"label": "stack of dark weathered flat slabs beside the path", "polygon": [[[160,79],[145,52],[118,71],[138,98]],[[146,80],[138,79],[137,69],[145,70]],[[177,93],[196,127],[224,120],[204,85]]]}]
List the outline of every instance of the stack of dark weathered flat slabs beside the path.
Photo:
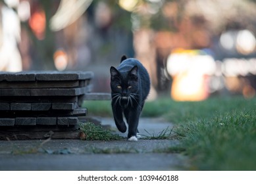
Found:
[{"label": "stack of dark weathered flat slabs beside the path", "polygon": [[76,126],[92,72],[0,72],[3,126]]}]

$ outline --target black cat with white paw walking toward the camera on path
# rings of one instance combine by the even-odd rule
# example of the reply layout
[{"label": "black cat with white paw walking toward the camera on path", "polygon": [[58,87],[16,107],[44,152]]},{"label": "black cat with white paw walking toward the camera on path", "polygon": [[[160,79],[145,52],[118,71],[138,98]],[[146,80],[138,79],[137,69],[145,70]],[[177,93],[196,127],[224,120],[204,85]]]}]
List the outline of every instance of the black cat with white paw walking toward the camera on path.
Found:
[{"label": "black cat with white paw walking toward the camera on path", "polygon": [[121,58],[118,68],[111,66],[112,110],[116,127],[126,132],[128,124],[128,141],[138,141],[138,123],[145,99],[149,94],[149,74],[135,58]]}]

